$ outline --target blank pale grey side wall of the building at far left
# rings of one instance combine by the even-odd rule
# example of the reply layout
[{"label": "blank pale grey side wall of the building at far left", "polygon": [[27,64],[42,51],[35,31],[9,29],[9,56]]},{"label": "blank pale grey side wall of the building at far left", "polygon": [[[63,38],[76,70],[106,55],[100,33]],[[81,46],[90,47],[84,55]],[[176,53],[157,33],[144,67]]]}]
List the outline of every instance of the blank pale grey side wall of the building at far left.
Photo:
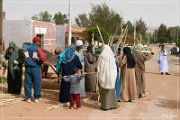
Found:
[{"label": "blank pale grey side wall of the building at far left", "polygon": [[22,48],[23,42],[31,42],[31,21],[3,20],[3,42],[5,49],[11,41]]}]

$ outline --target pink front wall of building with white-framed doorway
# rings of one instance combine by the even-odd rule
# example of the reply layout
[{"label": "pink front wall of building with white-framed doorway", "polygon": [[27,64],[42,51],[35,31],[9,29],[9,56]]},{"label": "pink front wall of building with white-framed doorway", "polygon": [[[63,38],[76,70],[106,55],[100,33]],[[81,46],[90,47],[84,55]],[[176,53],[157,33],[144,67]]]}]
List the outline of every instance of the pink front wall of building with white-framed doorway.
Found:
[{"label": "pink front wall of building with white-framed doorway", "polygon": [[[44,28],[46,31],[35,31],[35,28]],[[44,49],[54,52],[56,47],[56,25],[53,23],[33,21],[32,22],[32,37],[37,34],[44,35]]]}]

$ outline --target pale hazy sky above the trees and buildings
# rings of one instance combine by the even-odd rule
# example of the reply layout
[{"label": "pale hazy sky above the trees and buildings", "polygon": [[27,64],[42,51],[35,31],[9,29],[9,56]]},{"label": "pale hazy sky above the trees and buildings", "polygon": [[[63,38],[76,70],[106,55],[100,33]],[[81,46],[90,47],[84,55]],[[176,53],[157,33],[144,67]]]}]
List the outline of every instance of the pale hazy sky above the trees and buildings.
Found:
[{"label": "pale hazy sky above the trees and buildings", "polygon": [[[68,14],[68,0],[4,0],[3,10],[6,19],[30,19],[32,15],[47,10],[54,14],[58,11]],[[89,13],[91,4],[107,3],[122,14],[125,21],[142,19],[148,26],[157,27],[161,23],[167,26],[180,24],[180,3],[178,0],[71,0],[72,21],[78,14]]]}]

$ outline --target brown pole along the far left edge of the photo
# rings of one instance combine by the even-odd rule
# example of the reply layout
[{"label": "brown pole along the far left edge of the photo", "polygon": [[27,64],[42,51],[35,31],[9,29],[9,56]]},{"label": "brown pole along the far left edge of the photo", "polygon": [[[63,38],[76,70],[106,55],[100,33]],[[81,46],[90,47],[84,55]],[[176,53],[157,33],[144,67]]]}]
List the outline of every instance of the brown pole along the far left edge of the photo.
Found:
[{"label": "brown pole along the far left edge of the photo", "polygon": [[3,0],[0,0],[0,54],[3,52],[3,38],[2,38],[2,29],[3,29]]}]

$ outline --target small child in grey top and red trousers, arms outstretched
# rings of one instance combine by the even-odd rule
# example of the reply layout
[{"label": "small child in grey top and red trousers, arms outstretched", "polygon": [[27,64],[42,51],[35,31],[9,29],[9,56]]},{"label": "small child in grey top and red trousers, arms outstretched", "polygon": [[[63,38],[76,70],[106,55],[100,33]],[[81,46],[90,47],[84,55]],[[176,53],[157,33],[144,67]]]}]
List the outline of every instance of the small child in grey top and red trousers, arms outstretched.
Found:
[{"label": "small child in grey top and red trousers, arms outstretched", "polygon": [[80,102],[80,80],[84,77],[82,74],[79,76],[79,69],[74,69],[74,75],[64,76],[64,81],[71,82],[70,87],[70,109],[74,107],[74,100],[76,100],[76,108],[81,107]]}]

